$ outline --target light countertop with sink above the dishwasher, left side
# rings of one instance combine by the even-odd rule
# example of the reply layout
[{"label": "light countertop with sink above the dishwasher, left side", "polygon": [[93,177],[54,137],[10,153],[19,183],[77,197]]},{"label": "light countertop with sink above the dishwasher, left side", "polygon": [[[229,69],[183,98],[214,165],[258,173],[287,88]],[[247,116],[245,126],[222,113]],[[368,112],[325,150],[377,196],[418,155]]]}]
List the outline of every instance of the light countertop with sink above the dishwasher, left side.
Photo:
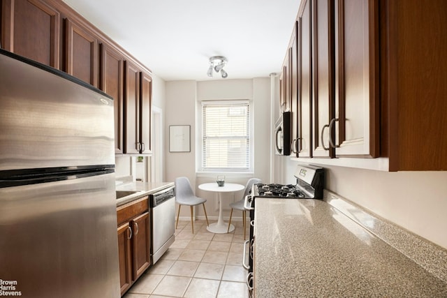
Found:
[{"label": "light countertop with sink above the dishwasher, left side", "polygon": [[116,186],[116,191],[135,191],[135,193],[117,198],[117,207],[171,186],[174,186],[174,182],[127,182],[119,184]]}]

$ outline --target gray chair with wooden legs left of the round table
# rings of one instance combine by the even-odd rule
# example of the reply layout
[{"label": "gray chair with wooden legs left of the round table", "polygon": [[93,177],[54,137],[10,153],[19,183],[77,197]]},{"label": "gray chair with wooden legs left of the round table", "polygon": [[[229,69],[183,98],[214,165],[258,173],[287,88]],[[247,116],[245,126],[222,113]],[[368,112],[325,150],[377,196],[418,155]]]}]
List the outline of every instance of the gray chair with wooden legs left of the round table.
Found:
[{"label": "gray chair with wooden legs left of the round table", "polygon": [[193,206],[202,204],[203,211],[205,211],[205,218],[208,223],[207,209],[205,209],[206,199],[198,198],[194,195],[193,188],[191,188],[191,183],[189,183],[189,179],[186,177],[178,177],[174,181],[175,184],[175,202],[179,204],[179,211],[177,214],[177,223],[175,223],[175,228],[177,229],[177,225],[179,224],[179,216],[180,216],[180,207],[182,205],[188,205],[191,208],[191,226],[193,228],[194,234],[194,223],[193,223]]}]

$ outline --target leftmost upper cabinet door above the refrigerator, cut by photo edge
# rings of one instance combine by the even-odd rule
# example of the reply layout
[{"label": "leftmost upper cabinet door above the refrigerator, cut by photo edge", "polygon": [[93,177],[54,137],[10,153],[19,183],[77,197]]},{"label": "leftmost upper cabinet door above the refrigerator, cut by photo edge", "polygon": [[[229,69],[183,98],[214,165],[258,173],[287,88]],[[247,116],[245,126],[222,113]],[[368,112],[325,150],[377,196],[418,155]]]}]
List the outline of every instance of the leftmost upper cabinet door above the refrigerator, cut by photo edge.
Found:
[{"label": "leftmost upper cabinet door above the refrigerator, cut by photo edge", "polygon": [[1,1],[1,47],[59,68],[59,12],[38,0]]}]

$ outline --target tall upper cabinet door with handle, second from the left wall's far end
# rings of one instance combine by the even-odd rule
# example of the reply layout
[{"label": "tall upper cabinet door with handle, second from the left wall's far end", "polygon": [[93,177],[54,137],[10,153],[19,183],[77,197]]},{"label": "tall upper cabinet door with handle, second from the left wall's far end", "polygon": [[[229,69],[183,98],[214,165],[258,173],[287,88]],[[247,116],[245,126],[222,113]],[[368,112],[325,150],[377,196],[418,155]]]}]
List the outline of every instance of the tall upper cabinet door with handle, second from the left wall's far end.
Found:
[{"label": "tall upper cabinet door with handle, second from the left wall's far end", "polygon": [[140,153],[140,69],[126,61],[124,96],[124,153]]}]

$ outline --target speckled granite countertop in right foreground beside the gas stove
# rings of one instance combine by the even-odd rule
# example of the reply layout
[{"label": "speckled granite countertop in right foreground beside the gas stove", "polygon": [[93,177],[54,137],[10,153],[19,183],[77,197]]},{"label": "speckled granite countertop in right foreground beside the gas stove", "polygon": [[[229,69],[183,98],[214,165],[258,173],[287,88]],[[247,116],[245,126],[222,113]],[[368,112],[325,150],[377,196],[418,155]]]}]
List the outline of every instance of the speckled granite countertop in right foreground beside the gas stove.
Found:
[{"label": "speckled granite countertop in right foreground beside the gas stove", "polygon": [[321,200],[256,198],[256,297],[447,297],[447,283]]}]

